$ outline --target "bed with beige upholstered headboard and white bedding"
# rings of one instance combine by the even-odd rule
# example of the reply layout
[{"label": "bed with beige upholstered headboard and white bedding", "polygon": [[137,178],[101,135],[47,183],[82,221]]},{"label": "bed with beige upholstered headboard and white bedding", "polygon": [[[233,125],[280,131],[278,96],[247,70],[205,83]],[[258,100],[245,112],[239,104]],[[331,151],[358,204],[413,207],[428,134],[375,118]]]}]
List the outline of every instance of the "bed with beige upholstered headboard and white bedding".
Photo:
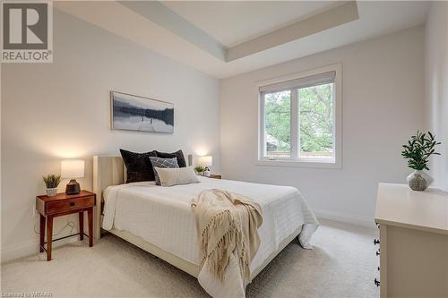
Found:
[{"label": "bed with beige upholstered headboard and white bedding", "polygon": [[[99,239],[101,231],[116,234],[194,277],[201,277],[201,272],[190,203],[202,190],[240,193],[262,206],[261,245],[251,263],[251,280],[294,238],[304,248],[311,248],[309,242],[318,226],[306,200],[293,187],[207,177],[200,177],[200,183],[171,187],[153,182],[124,182],[125,166],[121,157],[93,158],[93,190],[98,200],[95,239]],[[101,206],[104,206],[103,212]],[[209,294],[219,295],[202,287]]]}]

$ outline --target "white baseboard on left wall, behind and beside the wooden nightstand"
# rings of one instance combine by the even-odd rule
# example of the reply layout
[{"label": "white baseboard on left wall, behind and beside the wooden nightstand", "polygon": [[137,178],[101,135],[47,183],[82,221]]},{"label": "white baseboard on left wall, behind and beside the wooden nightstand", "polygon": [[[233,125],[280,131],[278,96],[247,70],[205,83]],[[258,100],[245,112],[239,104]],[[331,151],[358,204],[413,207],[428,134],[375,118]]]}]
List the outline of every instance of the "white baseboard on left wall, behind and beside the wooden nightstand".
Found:
[{"label": "white baseboard on left wall, behind and beside the wooden nightstand", "polygon": [[[70,237],[61,239],[59,241],[56,241],[53,243],[53,248],[59,247],[61,245],[67,244],[67,243],[73,243],[79,241],[78,237]],[[32,239],[29,242],[19,243],[16,245],[5,245],[1,248],[1,256],[2,260],[1,263],[3,264],[6,261],[9,260],[15,260],[22,257],[27,257],[30,255],[35,255],[39,253],[39,239]]]}]

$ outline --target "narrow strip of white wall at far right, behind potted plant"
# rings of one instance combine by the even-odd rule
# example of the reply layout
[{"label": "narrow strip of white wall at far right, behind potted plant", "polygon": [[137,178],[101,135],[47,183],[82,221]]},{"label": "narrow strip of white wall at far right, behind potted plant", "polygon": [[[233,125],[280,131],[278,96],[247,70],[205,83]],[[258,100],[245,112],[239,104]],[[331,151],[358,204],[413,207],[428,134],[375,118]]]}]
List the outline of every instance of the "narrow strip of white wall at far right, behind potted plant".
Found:
[{"label": "narrow strip of white wall at far right, behind potted plant", "polygon": [[426,128],[442,155],[431,159],[435,185],[448,192],[448,2],[433,2],[426,21]]}]

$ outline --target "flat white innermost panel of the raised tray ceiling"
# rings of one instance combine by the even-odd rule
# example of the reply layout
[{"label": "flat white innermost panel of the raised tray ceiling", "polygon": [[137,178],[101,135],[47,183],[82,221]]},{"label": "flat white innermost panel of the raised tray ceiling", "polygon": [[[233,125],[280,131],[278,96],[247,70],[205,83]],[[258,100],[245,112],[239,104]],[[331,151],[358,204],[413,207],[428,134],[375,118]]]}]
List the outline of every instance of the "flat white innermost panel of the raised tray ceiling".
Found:
[{"label": "flat white innermost panel of the raised tray ceiling", "polygon": [[291,21],[305,19],[335,5],[327,1],[163,1],[170,10],[216,38],[236,46]]}]

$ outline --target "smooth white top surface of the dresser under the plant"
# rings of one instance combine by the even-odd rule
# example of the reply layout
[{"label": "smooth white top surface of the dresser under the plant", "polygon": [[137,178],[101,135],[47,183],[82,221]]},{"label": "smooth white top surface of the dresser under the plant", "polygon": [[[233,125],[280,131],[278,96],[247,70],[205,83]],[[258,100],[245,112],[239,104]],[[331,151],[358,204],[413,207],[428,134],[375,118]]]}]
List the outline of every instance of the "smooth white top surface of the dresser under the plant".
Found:
[{"label": "smooth white top surface of the dresser under the plant", "polygon": [[380,183],[375,222],[448,234],[448,193],[435,188],[415,192],[407,184]]}]

